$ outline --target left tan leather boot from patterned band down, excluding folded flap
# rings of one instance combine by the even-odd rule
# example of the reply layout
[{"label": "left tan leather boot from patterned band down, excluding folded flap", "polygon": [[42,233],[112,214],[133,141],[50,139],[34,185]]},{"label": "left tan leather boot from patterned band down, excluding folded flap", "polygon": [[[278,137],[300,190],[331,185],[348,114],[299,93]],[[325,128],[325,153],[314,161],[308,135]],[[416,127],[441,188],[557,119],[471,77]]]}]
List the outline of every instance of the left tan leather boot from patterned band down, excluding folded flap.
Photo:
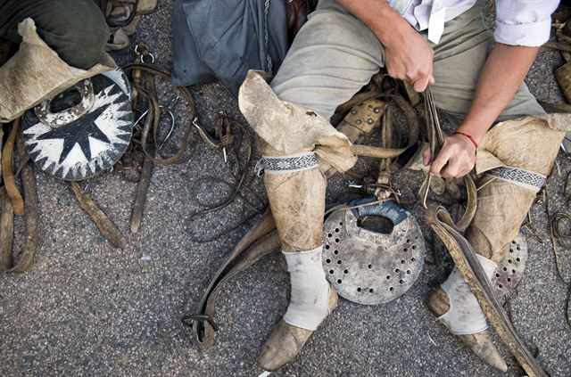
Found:
[{"label": "left tan leather boot from patterned band down, excluding folded flap", "polygon": [[289,307],[259,358],[275,371],[294,358],[337,304],[321,263],[326,178],[314,152],[277,156],[265,144],[264,184],[292,284]]}]

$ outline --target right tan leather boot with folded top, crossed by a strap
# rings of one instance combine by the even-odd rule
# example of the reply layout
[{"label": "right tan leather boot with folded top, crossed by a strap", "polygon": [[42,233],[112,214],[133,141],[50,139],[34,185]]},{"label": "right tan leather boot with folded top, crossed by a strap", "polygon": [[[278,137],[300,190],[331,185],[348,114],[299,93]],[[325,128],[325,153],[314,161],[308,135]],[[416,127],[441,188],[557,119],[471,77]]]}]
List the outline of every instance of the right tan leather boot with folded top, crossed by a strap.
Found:
[{"label": "right tan leather boot with folded top, crossed by a strap", "polygon": [[[493,266],[500,263],[509,250],[509,242],[519,232],[536,193],[542,188],[557,158],[565,133],[548,125],[544,119],[532,117],[503,122],[489,131],[478,149],[476,171],[487,171],[478,182],[476,215],[466,231],[466,238],[479,254],[489,278],[495,268]],[[432,293],[428,307],[485,363],[506,372],[507,365],[486,329],[484,312],[474,295],[469,291],[466,294],[467,287],[463,287],[466,283],[463,279],[455,279],[455,274],[456,269]],[[457,297],[458,291],[464,294],[463,299]],[[477,310],[465,313],[465,316],[458,315],[462,307],[470,307],[474,302]],[[451,312],[456,312],[456,315]],[[471,326],[475,328],[475,324],[483,324],[481,327],[484,329],[463,331]]]}]

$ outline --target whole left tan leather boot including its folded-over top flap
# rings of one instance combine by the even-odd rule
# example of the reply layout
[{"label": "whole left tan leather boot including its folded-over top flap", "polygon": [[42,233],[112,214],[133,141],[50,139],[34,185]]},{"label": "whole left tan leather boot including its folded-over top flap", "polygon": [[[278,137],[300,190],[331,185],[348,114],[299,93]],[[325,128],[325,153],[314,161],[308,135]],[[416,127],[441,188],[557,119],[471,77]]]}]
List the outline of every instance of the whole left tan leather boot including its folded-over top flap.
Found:
[{"label": "whole left tan leather boot including its folded-over top flap", "polygon": [[297,355],[336,306],[337,294],[321,264],[326,191],[321,168],[345,171],[356,157],[347,136],[314,111],[279,100],[260,72],[248,72],[238,104],[261,139],[264,183],[292,283],[284,319],[259,358],[265,370],[274,371]]}]

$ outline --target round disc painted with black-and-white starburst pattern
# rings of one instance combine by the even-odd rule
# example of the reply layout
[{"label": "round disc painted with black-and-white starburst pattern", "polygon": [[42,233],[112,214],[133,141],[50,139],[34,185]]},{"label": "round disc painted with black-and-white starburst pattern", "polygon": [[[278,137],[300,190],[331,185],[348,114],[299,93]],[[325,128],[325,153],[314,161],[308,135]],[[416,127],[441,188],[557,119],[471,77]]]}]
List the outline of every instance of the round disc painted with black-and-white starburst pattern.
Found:
[{"label": "round disc painted with black-and-white starburst pattern", "polygon": [[[34,110],[23,116],[26,150],[37,167],[51,176],[70,181],[95,176],[112,168],[127,150],[133,131],[128,87],[105,75],[90,79],[95,102],[81,118],[55,127],[40,121]],[[41,106],[69,108],[64,101],[65,95],[58,94]]]}]

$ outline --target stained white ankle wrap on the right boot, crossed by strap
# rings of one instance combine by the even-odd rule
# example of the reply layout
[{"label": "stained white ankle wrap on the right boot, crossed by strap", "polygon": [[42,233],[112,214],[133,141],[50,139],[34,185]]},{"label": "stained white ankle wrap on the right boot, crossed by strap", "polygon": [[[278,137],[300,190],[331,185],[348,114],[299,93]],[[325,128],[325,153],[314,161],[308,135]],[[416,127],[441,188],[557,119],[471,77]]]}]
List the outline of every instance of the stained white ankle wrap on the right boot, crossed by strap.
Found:
[{"label": "stained white ankle wrap on the right boot, crossed by strap", "polygon": [[[492,260],[476,254],[480,264],[484,268],[488,279],[492,278],[496,264]],[[476,296],[470,291],[468,283],[462,277],[458,268],[454,267],[448,279],[441,284],[444,292],[448,295],[450,309],[439,316],[441,321],[454,335],[468,335],[483,332],[488,328],[484,311],[478,304]]]}]

